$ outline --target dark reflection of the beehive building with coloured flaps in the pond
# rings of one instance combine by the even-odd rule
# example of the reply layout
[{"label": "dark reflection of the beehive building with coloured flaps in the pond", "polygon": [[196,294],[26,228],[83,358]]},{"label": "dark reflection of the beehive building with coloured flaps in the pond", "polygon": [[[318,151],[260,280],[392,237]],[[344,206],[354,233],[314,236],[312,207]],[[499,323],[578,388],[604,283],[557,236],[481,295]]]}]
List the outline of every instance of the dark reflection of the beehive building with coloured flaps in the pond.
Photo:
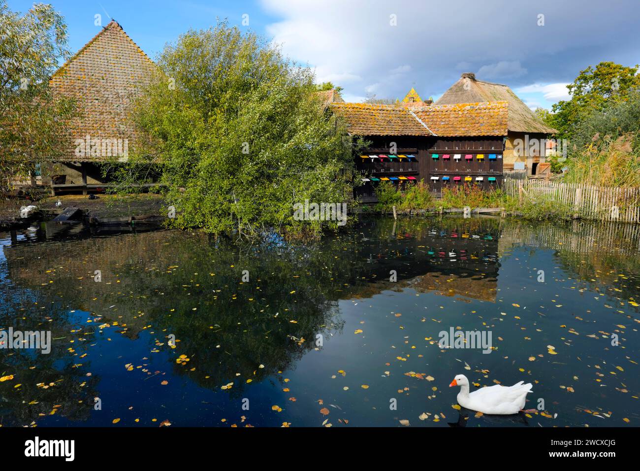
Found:
[{"label": "dark reflection of the beehive building with coloured flaps in the pond", "polygon": [[[369,256],[361,262],[366,270],[362,277],[375,283],[353,288],[350,294],[371,297],[383,290],[412,288],[495,301],[498,223],[489,218],[444,218],[387,227],[380,238],[363,242]],[[392,270],[396,282],[390,281]]]}]

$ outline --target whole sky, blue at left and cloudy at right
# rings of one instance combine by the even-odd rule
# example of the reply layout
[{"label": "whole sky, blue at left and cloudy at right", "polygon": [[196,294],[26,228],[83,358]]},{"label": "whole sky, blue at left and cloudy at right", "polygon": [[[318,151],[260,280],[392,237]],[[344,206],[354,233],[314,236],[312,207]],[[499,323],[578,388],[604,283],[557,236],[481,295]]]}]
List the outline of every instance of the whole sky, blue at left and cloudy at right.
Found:
[{"label": "whole sky, blue at left and cloudy at right", "polygon": [[[33,2],[8,0],[12,10]],[[415,87],[437,98],[461,72],[506,83],[532,108],[566,99],[566,83],[588,65],[640,63],[636,0],[53,0],[73,52],[116,19],[154,58],[166,42],[216,17],[281,44],[344,87],[348,101],[402,98]],[[243,15],[249,25],[243,26]]]}]

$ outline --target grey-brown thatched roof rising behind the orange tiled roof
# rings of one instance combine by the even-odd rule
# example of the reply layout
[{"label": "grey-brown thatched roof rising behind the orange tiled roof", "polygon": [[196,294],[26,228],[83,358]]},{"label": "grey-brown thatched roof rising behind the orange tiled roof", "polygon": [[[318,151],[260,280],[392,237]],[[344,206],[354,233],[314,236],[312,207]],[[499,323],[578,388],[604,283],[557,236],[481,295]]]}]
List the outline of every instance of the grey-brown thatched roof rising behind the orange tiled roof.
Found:
[{"label": "grey-brown thatched roof rising behind the orange tiled roof", "polygon": [[439,104],[478,103],[487,101],[507,101],[509,131],[522,133],[555,134],[558,131],[543,123],[529,106],[524,104],[511,88],[500,83],[486,82],[476,79],[476,75],[466,72],[451,85],[449,90],[436,101]]}]

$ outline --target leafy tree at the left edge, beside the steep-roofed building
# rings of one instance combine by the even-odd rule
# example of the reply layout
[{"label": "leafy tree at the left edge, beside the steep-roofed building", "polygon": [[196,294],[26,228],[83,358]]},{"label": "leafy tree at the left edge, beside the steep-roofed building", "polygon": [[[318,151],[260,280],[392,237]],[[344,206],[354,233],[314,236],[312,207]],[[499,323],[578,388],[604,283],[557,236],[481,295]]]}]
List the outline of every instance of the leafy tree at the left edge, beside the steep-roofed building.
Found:
[{"label": "leafy tree at the left edge, beside the steep-roofed building", "polygon": [[56,97],[49,77],[69,56],[67,25],[51,5],[20,15],[0,0],[0,193],[60,154],[74,101]]}]

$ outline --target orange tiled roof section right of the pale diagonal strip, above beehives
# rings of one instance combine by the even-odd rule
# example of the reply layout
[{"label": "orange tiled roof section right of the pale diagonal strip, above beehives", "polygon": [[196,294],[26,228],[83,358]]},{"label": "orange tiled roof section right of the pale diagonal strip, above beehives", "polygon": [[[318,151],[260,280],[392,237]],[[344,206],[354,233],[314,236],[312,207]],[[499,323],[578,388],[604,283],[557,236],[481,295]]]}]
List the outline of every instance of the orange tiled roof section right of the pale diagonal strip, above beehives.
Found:
[{"label": "orange tiled roof section right of the pale diagonal strip, above beehives", "polygon": [[507,135],[506,101],[424,106],[412,111],[438,136]]}]

